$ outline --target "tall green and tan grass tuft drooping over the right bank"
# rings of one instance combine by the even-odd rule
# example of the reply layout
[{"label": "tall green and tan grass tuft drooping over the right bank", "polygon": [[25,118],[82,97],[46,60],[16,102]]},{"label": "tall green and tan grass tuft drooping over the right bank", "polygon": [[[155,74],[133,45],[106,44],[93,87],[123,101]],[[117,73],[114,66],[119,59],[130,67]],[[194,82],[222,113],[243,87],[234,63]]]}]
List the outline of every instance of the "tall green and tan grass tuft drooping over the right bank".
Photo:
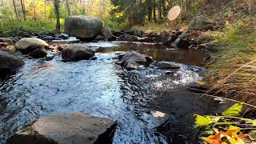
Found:
[{"label": "tall green and tan grass tuft drooping over the right bank", "polygon": [[217,37],[221,48],[206,78],[226,98],[256,106],[256,30],[250,22],[227,26],[226,33]]}]

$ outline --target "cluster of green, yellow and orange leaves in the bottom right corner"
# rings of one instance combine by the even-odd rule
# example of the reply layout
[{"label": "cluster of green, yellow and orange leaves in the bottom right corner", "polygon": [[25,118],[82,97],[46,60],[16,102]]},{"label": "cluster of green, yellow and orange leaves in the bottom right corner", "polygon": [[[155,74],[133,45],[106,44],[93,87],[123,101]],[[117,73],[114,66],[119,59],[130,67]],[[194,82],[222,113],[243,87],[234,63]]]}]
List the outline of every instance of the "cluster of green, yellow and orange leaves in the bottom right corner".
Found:
[{"label": "cluster of green, yellow and orange leaves in the bottom right corner", "polygon": [[239,118],[243,103],[236,103],[219,116],[195,115],[202,143],[246,144],[256,142],[256,120]]}]

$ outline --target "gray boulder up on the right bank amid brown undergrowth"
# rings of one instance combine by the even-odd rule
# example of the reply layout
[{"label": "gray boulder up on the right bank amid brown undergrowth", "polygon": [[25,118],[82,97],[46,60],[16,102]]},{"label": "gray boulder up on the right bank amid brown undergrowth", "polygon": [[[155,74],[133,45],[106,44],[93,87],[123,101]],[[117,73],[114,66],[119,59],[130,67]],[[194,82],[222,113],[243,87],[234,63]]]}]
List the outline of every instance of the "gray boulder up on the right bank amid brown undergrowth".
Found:
[{"label": "gray boulder up on the right bank amid brown undergrowth", "polygon": [[210,22],[205,16],[195,17],[189,25],[189,30],[213,30],[214,23]]}]

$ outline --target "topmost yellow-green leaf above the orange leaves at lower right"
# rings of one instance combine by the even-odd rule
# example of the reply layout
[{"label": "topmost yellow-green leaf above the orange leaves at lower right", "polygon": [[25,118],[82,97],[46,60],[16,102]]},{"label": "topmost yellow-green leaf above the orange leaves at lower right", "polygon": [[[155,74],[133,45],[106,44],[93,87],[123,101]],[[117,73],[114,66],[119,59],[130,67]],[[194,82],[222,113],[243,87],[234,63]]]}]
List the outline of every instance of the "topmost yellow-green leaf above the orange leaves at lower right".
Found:
[{"label": "topmost yellow-green leaf above the orange leaves at lower right", "polygon": [[236,103],[227,110],[222,112],[223,116],[227,117],[238,117],[242,112],[243,103]]}]

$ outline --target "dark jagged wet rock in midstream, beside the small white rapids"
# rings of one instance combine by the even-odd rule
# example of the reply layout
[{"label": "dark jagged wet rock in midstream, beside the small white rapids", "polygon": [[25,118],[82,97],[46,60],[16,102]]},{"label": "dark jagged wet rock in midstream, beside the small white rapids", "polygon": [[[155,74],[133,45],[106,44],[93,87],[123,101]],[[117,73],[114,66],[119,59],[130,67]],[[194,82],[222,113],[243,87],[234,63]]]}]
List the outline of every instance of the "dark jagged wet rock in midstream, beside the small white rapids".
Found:
[{"label": "dark jagged wet rock in midstream, beside the small white rapids", "polygon": [[152,62],[151,58],[135,51],[129,51],[126,54],[121,55],[119,60],[120,62],[118,62],[118,64],[127,70],[137,70],[138,67],[149,66],[150,62]]}]

